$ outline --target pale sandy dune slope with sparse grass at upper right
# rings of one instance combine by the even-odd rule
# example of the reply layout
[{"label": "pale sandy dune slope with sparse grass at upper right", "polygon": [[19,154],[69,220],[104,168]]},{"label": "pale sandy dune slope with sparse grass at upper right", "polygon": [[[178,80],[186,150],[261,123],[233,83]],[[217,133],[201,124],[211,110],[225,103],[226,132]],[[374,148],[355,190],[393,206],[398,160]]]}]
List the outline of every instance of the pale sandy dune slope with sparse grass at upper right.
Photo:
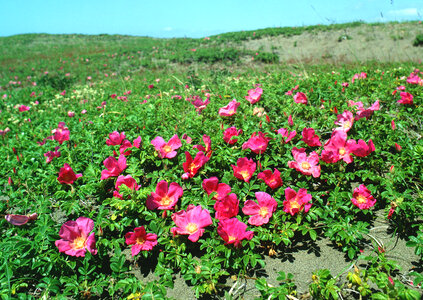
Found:
[{"label": "pale sandy dune slope with sparse grass at upper right", "polygon": [[361,25],[346,30],[304,33],[292,37],[249,40],[236,47],[274,52],[287,63],[402,62],[423,59],[423,47],[414,47],[423,24]]}]

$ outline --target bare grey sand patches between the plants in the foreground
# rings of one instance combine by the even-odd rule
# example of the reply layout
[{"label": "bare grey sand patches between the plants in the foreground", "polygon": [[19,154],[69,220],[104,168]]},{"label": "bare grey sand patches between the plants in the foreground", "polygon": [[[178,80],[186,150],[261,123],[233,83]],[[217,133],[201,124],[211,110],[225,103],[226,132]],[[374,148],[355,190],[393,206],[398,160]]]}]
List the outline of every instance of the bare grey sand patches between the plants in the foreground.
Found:
[{"label": "bare grey sand patches between the plants in the foreground", "polygon": [[[400,273],[406,275],[414,268],[421,268],[419,257],[414,254],[414,249],[406,247],[405,241],[390,233],[389,222],[384,218],[383,212],[378,212],[378,218],[370,229],[368,245],[364,248],[364,255],[370,255],[373,252],[377,242],[383,245],[386,250],[386,257],[394,260],[400,266]],[[376,242],[377,240],[377,242]],[[129,254],[129,253],[128,253]],[[333,243],[325,237],[320,237],[316,242],[309,239],[304,243],[292,245],[284,253],[277,253],[274,257],[265,257],[266,266],[259,269],[251,277],[265,277],[268,284],[277,286],[278,272],[292,273],[294,282],[297,285],[297,297],[299,299],[310,299],[308,286],[312,282],[313,272],[319,269],[328,269],[335,277],[339,277],[341,282],[346,281],[347,273],[355,264],[358,268],[365,269],[364,260],[351,261],[345,253],[334,247]],[[148,274],[141,273],[140,270],[134,270],[135,274],[141,280],[149,281],[157,279],[150,271]],[[227,290],[235,284],[231,278],[227,279]],[[233,294],[234,299],[260,299],[260,292],[255,288],[254,279],[240,279],[236,283]],[[167,296],[171,299],[195,299],[192,287],[175,274],[174,288],[168,289]],[[223,299],[223,293],[220,298],[206,295],[204,299]],[[345,299],[354,299],[352,296]]]}]

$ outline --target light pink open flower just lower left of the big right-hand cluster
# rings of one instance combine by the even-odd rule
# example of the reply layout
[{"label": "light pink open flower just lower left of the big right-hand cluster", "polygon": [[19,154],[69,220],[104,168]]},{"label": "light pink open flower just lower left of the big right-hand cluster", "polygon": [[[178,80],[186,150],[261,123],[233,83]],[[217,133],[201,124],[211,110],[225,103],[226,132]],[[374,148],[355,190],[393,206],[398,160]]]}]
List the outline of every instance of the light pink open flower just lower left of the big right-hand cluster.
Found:
[{"label": "light pink open flower just lower left of the big right-hand cluster", "polygon": [[320,176],[319,155],[315,151],[307,156],[304,148],[297,149],[297,147],[294,147],[291,152],[295,161],[289,161],[288,167],[304,175],[312,175],[314,178]]}]

